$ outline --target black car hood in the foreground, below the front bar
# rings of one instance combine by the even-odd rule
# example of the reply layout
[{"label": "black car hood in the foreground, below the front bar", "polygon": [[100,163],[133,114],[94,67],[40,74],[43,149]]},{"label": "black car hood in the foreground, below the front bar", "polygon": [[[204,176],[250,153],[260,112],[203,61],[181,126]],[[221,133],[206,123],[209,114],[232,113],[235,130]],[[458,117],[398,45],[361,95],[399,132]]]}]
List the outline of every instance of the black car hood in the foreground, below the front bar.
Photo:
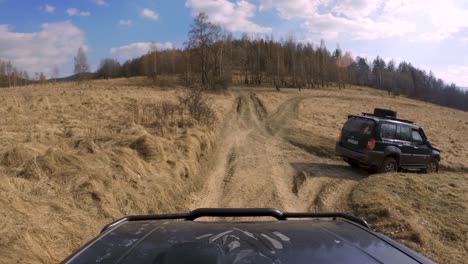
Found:
[{"label": "black car hood in the foreground, below the front bar", "polygon": [[[386,238],[386,237],[385,237]],[[386,238],[388,239],[388,238]],[[134,221],[66,263],[420,263],[347,221]],[[406,253],[405,253],[406,252]]]}]

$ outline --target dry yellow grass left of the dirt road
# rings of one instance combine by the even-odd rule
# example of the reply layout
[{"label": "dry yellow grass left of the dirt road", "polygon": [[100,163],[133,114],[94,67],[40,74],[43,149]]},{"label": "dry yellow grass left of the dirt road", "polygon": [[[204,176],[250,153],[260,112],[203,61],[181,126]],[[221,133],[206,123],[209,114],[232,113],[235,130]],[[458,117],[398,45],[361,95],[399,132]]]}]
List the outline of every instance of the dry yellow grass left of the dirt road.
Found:
[{"label": "dry yellow grass left of the dirt road", "polygon": [[[184,211],[219,126],[162,131],[139,80],[0,89],[0,262],[58,262],[126,214]],[[213,95],[218,118],[232,97]]]}]

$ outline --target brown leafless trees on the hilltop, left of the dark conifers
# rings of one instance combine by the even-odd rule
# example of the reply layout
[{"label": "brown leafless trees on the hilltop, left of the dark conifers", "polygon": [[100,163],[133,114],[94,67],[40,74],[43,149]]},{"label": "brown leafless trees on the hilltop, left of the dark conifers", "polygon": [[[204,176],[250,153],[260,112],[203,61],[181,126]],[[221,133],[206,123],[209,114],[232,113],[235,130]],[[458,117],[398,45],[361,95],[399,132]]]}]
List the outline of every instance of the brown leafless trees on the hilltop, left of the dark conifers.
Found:
[{"label": "brown leafless trees on the hilltop, left of the dark conifers", "polygon": [[[199,83],[212,90],[225,89],[230,83],[281,87],[324,87],[332,83],[344,87],[353,82],[352,56],[337,48],[330,52],[325,44],[314,47],[289,38],[235,39],[200,14],[191,25],[182,50],[152,50],[120,65],[106,58],[98,77],[177,74],[184,84]],[[108,69],[112,69],[108,71]]]}]

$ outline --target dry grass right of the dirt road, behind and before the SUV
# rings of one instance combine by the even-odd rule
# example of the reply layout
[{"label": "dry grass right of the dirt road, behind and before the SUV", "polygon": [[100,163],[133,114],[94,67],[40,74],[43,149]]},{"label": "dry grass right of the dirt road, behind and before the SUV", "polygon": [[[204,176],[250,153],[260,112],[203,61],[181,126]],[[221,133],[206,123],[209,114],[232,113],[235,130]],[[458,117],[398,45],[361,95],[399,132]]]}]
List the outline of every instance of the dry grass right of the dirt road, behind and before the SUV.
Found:
[{"label": "dry grass right of the dirt road, behind and before the SUV", "polygon": [[398,111],[425,128],[442,149],[438,174],[371,175],[351,193],[349,213],[364,217],[371,227],[441,263],[468,258],[468,113],[387,93],[352,87],[299,93],[259,95],[268,109],[301,95],[297,119],[284,133],[307,151],[336,159],[334,147],[348,114],[372,112],[375,107]]}]

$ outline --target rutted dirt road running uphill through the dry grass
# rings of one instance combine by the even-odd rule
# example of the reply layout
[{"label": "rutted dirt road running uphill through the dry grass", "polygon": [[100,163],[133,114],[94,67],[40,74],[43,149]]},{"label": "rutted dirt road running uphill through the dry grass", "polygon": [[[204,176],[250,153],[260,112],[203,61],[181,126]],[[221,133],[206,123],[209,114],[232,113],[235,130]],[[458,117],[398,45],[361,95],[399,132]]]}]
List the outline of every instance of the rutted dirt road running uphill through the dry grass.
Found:
[{"label": "rutted dirt road running uphill through the dry grass", "polygon": [[311,151],[318,142],[287,140],[305,98],[294,96],[269,114],[254,92],[239,92],[191,207],[348,211],[348,196],[365,173]]}]

